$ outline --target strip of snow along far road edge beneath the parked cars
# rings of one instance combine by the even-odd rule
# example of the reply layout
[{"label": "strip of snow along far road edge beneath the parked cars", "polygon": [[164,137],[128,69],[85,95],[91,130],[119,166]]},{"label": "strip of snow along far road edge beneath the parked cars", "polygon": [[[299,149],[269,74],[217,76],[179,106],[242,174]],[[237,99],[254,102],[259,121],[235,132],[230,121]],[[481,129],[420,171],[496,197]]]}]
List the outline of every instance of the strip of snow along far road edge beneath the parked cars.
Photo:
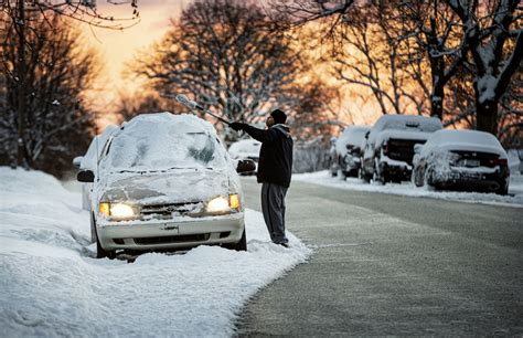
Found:
[{"label": "strip of snow along far road edge beneath the parked cars", "polygon": [[346,181],[342,181],[337,177],[331,177],[328,170],[292,175],[292,180],[356,191],[372,191],[399,196],[427,197],[461,202],[523,208],[523,176],[521,175],[511,176],[509,196],[481,192],[434,191],[427,187],[417,188],[410,182],[403,182],[401,184],[387,183],[383,186],[381,183],[367,184],[356,178],[348,178]]}]

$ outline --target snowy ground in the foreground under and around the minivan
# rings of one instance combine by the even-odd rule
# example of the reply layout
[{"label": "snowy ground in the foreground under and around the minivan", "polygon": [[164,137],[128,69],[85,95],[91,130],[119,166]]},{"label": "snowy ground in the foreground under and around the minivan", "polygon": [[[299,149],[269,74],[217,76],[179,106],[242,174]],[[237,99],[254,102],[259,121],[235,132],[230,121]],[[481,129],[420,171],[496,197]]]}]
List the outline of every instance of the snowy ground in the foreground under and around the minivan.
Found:
[{"label": "snowy ground in the foreground under and around the minivan", "polygon": [[242,305],[310,254],[292,234],[290,249],[270,243],[262,215],[247,210],[248,252],[95,260],[88,213],[67,188],[0,167],[3,337],[231,336]]}]

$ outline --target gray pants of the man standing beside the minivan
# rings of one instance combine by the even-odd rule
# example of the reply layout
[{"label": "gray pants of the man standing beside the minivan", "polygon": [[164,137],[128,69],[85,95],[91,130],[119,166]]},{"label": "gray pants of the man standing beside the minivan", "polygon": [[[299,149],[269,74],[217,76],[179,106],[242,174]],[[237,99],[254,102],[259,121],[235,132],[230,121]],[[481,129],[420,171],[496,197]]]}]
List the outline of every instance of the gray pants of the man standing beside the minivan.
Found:
[{"label": "gray pants of the man standing beside the minivan", "polygon": [[274,243],[288,243],[285,235],[285,196],[287,188],[274,183],[262,184],[262,211]]}]

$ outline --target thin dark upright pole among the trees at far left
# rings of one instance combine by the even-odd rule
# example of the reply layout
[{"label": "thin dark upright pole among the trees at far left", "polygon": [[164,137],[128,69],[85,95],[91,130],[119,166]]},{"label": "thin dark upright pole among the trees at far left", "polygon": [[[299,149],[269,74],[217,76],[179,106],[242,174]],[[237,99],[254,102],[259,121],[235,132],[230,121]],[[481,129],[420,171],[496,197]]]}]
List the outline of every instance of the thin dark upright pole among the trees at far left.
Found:
[{"label": "thin dark upright pole among the trees at far left", "polygon": [[17,33],[18,33],[18,67],[17,67],[17,84],[18,84],[18,148],[17,158],[18,166],[25,163],[25,89],[26,89],[26,71],[25,71],[25,0],[18,0],[17,3]]}]

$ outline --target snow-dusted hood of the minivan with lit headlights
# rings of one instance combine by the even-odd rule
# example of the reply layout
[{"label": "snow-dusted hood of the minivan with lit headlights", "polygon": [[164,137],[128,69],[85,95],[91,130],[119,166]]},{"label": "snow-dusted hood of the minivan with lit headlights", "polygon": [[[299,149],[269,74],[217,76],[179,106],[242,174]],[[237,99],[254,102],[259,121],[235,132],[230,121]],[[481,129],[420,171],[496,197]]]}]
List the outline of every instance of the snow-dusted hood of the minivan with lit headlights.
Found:
[{"label": "snow-dusted hood of the minivan with lit headlights", "polygon": [[[232,181],[232,182],[230,182]],[[100,182],[99,201],[162,204],[207,201],[236,191],[224,171],[185,169],[173,172],[111,173]]]}]

